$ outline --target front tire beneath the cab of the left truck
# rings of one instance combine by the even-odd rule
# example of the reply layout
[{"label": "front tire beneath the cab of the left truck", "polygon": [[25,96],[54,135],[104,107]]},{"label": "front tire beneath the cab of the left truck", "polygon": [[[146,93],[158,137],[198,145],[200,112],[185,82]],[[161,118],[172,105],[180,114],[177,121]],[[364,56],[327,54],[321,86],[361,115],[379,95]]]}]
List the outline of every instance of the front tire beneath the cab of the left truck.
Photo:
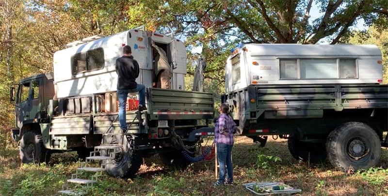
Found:
[{"label": "front tire beneath the cab of the left truck", "polygon": [[20,140],[22,163],[49,163],[51,153],[43,145],[42,135],[37,131],[26,132]]}]

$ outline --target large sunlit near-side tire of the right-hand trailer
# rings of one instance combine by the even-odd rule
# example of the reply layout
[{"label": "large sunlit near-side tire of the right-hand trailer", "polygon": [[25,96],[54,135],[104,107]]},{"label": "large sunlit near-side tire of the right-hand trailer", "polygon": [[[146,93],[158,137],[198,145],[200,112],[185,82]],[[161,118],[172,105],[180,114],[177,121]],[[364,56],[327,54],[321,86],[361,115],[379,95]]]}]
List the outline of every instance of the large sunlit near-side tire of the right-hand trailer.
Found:
[{"label": "large sunlit near-side tire of the right-hand trailer", "polygon": [[326,151],[330,163],[339,170],[368,169],[379,161],[381,143],[367,124],[346,122],[327,137]]}]

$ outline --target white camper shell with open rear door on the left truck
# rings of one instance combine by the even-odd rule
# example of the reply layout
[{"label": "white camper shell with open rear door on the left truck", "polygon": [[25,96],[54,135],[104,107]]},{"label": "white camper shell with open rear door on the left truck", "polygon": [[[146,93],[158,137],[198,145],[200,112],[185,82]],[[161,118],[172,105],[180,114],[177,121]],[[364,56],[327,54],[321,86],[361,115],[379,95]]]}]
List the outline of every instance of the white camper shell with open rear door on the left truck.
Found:
[{"label": "white camper shell with open rear door on the left truck", "polygon": [[[185,46],[167,35],[153,33],[152,39],[166,51],[172,65],[172,89],[184,90],[184,75],[187,73]],[[93,36],[70,45],[73,46],[54,53],[58,98],[116,91],[115,62],[123,56],[124,45],[131,47],[132,56],[139,63],[140,75],[136,82],[152,87],[152,47],[144,30],[127,30],[102,38]]]}]

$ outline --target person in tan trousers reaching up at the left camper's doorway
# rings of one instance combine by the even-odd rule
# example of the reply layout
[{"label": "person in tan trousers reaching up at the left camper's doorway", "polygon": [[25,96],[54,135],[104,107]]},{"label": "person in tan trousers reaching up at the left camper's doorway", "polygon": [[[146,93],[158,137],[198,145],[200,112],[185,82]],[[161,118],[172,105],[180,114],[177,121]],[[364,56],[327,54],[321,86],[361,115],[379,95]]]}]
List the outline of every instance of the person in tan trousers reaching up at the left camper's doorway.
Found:
[{"label": "person in tan trousers reaching up at the left camper's doorway", "polygon": [[161,89],[171,89],[170,79],[172,76],[171,67],[168,63],[166,52],[155,44],[151,38],[152,32],[147,31],[148,43],[151,44],[153,48],[153,57],[154,57],[154,72],[156,78],[154,82],[157,82],[157,88]]}]

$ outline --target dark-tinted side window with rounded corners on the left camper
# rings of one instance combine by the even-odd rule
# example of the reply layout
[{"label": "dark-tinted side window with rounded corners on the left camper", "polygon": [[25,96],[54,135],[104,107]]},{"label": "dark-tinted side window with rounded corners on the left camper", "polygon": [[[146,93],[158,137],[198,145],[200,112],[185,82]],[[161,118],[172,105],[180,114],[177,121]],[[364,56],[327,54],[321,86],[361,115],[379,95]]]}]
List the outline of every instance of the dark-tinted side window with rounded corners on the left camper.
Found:
[{"label": "dark-tinted side window with rounded corners on the left camper", "polygon": [[104,68],[104,49],[97,48],[81,52],[71,57],[71,73],[73,75],[100,70]]}]

